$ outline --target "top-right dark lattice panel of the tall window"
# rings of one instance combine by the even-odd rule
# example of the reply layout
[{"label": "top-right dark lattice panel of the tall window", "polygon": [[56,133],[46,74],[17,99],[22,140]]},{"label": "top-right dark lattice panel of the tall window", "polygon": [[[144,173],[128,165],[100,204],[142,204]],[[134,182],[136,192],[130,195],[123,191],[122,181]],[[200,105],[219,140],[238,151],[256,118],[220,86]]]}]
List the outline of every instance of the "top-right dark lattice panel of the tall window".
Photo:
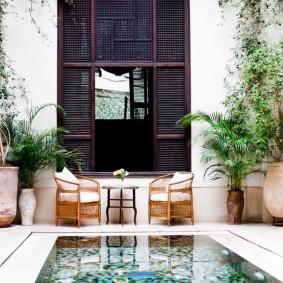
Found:
[{"label": "top-right dark lattice panel of the tall window", "polygon": [[184,0],[157,0],[157,61],[185,60]]}]

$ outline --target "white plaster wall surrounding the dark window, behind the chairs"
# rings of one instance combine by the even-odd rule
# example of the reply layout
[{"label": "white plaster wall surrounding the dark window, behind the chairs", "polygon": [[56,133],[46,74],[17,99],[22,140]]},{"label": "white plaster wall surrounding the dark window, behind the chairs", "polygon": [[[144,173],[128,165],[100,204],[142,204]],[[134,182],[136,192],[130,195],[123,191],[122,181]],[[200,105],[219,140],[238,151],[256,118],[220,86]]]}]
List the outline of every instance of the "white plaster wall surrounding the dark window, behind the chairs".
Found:
[{"label": "white plaster wall surrounding the dark window, behind the chairs", "polygon": [[[192,112],[221,111],[221,101],[225,97],[223,78],[225,67],[232,54],[234,46],[233,34],[235,11],[225,11],[225,21],[221,19],[221,11],[217,0],[191,1],[191,86]],[[6,50],[14,60],[13,65],[19,76],[26,81],[29,100],[33,105],[46,102],[57,102],[57,30],[52,22],[52,13],[56,15],[56,0],[51,0],[51,14],[48,7],[39,8],[35,14],[42,32],[48,35],[48,40],[38,34],[30,23],[27,1],[18,1],[17,16],[8,14],[5,18],[7,26]],[[23,18],[23,19],[22,19]],[[25,101],[18,95],[18,109],[25,107]],[[37,120],[37,127],[44,129],[56,125],[56,113],[49,110]],[[192,126],[192,136],[195,137],[203,129],[202,125]],[[226,221],[226,184],[211,183],[203,179],[203,168],[199,163],[200,143],[192,146],[192,171],[194,181],[194,210],[197,222]],[[54,223],[55,182],[51,173],[43,173],[35,184],[37,208],[34,216],[36,223]],[[114,182],[113,178],[99,179],[101,186]],[[139,185],[137,191],[138,223],[147,222],[147,197],[150,178],[131,178],[128,183]],[[245,189],[244,221],[270,222],[262,200],[263,179],[251,181]],[[105,223],[106,192],[102,194],[102,223]],[[125,222],[132,222],[132,213],[127,213]],[[117,213],[111,213],[111,221],[117,221]]]}]

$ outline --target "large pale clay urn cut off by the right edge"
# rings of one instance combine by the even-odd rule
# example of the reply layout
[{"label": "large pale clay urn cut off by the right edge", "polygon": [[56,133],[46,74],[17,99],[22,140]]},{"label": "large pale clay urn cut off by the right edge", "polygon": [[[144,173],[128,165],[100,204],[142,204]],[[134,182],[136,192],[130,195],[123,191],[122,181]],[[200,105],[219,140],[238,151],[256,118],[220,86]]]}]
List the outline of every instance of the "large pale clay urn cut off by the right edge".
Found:
[{"label": "large pale clay urn cut off by the right edge", "polygon": [[269,164],[263,198],[268,212],[275,218],[283,218],[283,162]]}]

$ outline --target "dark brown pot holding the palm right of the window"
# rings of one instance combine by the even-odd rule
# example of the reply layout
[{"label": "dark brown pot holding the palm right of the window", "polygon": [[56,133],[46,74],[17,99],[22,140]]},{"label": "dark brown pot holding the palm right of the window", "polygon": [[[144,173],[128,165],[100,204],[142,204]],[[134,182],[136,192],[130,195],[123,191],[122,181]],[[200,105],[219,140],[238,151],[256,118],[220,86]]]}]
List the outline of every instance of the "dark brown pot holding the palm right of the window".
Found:
[{"label": "dark brown pot holding the palm right of the window", "polygon": [[241,224],[244,208],[244,192],[228,191],[227,212],[228,224]]}]

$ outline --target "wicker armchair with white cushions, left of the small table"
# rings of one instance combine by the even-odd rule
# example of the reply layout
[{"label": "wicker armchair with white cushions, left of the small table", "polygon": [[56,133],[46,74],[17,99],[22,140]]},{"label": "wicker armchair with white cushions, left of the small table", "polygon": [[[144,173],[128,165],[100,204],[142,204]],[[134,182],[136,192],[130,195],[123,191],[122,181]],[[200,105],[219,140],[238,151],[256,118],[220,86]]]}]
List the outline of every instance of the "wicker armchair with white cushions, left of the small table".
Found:
[{"label": "wicker armchair with white cushions, left of the small table", "polygon": [[100,184],[92,178],[74,176],[77,181],[67,181],[55,173],[56,226],[59,219],[75,219],[80,227],[81,220],[101,220]]}]

